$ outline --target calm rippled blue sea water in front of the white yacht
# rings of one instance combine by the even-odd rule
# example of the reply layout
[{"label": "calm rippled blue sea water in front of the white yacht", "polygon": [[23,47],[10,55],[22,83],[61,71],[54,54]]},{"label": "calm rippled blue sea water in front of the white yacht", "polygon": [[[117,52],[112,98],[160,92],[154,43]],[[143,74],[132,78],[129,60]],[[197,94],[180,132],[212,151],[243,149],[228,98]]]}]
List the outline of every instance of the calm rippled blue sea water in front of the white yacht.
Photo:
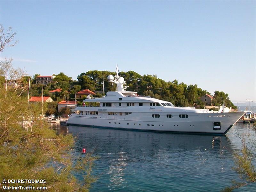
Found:
[{"label": "calm rippled blue sea water in front of the white yacht", "polygon": [[[98,180],[92,192],[220,191],[231,180],[239,181],[232,170],[232,153],[241,149],[234,127],[255,137],[249,124],[235,124],[226,136],[52,126],[77,136],[74,156],[86,148],[100,157],[93,168]],[[83,174],[76,176],[82,180]],[[235,191],[256,191],[256,185]]]}]

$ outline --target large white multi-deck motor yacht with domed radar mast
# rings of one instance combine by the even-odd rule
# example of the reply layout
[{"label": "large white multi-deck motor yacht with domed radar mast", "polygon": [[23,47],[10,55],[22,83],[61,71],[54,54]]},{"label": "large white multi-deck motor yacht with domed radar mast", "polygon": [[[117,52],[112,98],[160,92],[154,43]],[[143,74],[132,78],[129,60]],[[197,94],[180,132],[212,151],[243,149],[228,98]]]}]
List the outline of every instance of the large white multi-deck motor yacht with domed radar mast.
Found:
[{"label": "large white multi-deck motor yacht with domed radar mast", "polygon": [[102,128],[134,129],[165,132],[226,134],[244,112],[215,113],[202,109],[175,107],[171,102],[137,92],[125,91],[124,78],[109,75],[117,91],[102,98],[85,99],[89,106],[79,106],[68,124]]}]

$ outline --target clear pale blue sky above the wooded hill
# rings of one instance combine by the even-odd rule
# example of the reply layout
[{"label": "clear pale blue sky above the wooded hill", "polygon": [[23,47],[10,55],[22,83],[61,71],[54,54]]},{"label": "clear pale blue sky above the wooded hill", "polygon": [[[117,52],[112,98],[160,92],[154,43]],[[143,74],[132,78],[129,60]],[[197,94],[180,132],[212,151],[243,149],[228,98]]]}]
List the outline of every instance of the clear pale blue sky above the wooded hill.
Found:
[{"label": "clear pale blue sky above the wooded hill", "polygon": [[136,71],[256,100],[256,1],[0,1],[29,75]]}]

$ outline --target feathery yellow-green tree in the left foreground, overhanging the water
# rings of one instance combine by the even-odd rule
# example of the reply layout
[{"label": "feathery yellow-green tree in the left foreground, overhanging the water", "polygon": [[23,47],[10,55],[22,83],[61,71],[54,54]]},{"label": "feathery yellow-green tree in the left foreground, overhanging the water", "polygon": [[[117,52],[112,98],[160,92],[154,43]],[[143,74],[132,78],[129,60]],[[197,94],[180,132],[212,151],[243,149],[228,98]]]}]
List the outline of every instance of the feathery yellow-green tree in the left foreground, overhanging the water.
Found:
[{"label": "feathery yellow-green tree in the left foreground, overhanging the water", "polygon": [[[2,46],[8,45],[6,39],[13,39],[5,34],[10,34],[10,28],[5,33],[0,25],[0,52],[4,50]],[[0,62],[0,74],[9,71],[9,76],[15,74],[20,84],[22,74],[7,62]],[[16,78],[18,76],[20,78]],[[77,159],[71,157],[67,149],[74,145],[73,136],[57,134],[48,127],[40,115],[41,103],[28,105],[23,95],[27,88],[24,85],[19,92],[13,87],[7,87],[7,91],[0,88],[0,180],[43,179],[46,183],[34,187],[47,187],[47,191],[88,191],[95,181],[91,176],[95,158],[91,154]],[[75,172],[85,173],[82,183],[73,176]],[[13,186],[27,187],[27,183]]]}]

